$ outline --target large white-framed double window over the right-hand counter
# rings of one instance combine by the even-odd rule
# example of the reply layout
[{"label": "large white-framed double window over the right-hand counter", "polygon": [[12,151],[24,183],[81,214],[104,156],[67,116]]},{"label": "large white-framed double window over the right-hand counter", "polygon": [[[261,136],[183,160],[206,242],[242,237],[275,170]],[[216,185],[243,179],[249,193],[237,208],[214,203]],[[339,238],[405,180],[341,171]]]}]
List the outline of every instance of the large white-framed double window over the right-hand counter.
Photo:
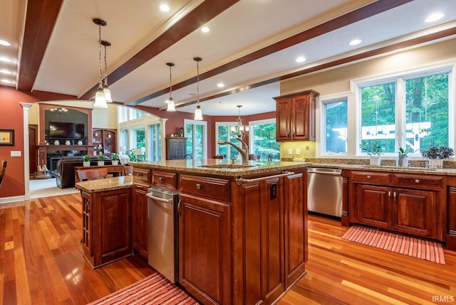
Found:
[{"label": "large white-framed double window over the right-hand counter", "polygon": [[410,147],[418,156],[430,146],[450,146],[451,79],[452,67],[442,67],[359,83],[358,139],[378,141],[387,154]]}]

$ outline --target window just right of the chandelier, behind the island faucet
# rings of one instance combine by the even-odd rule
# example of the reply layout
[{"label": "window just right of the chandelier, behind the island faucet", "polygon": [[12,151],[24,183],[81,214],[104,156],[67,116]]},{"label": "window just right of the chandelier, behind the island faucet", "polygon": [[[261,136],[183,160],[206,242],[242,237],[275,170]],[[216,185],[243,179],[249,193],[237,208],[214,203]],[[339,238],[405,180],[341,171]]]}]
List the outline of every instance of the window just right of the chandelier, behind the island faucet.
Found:
[{"label": "window just right of the chandelier, behind the island faucet", "polygon": [[261,160],[268,160],[269,155],[273,160],[280,160],[280,143],[276,142],[276,119],[264,119],[249,124],[250,154],[261,156]]}]

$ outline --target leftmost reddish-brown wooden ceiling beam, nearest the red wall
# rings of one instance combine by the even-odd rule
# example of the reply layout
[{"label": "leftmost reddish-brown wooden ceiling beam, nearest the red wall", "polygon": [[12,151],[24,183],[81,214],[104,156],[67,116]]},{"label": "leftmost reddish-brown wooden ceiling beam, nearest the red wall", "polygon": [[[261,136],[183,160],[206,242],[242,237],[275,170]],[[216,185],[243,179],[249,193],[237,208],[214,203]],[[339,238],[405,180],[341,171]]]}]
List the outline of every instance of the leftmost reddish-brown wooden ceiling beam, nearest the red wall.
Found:
[{"label": "leftmost reddish-brown wooden ceiling beam, nearest the red wall", "polygon": [[63,0],[28,0],[17,90],[31,92]]}]

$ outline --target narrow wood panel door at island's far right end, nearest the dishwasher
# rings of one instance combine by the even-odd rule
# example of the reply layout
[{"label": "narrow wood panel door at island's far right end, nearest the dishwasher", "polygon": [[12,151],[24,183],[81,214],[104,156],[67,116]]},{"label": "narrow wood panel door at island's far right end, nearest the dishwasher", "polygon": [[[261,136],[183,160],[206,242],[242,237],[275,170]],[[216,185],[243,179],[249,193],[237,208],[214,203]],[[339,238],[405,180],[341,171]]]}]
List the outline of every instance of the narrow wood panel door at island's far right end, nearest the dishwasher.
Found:
[{"label": "narrow wood panel door at island's far right end, nearest the dishwasher", "polygon": [[285,288],[306,269],[307,203],[302,173],[284,178]]}]

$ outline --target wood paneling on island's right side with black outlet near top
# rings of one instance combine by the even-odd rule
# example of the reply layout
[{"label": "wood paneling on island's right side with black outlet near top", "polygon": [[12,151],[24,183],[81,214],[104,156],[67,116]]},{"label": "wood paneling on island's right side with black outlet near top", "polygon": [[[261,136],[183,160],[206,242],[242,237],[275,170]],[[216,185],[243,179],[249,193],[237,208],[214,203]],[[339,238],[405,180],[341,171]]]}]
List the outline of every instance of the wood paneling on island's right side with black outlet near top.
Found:
[{"label": "wood paneling on island's right side with black outlet near top", "polygon": [[[237,188],[234,304],[270,303],[285,291],[283,183],[271,178]],[[239,255],[239,256],[238,256]]]}]

